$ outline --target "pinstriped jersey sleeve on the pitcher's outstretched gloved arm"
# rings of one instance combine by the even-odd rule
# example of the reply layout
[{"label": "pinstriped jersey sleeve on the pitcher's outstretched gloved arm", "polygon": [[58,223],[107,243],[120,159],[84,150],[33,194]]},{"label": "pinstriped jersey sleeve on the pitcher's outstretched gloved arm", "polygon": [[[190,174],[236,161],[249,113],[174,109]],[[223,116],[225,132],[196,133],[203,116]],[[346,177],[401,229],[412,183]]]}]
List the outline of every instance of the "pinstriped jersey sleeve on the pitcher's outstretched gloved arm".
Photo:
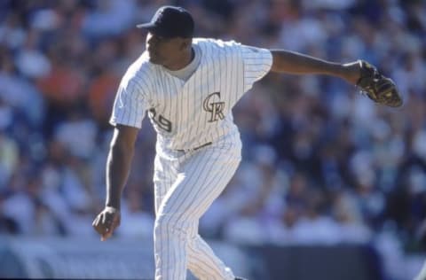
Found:
[{"label": "pinstriped jersey sleeve on the pitcher's outstretched gloved arm", "polygon": [[266,49],[241,45],[241,57],[244,65],[244,91],[247,91],[271,70],[272,53]]}]

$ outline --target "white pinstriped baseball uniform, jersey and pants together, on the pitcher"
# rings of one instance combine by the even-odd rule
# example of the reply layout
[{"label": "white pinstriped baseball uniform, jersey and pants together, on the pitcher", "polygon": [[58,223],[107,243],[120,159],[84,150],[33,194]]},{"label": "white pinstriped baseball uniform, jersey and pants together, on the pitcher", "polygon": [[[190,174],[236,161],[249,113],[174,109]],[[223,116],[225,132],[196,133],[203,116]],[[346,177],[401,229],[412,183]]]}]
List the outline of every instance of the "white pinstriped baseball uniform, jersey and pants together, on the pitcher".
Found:
[{"label": "white pinstriped baseball uniform, jersey and pants together, on the pitcher", "polygon": [[[233,279],[198,234],[198,222],[241,160],[232,109],[268,73],[272,54],[235,42],[194,39],[200,64],[187,81],[142,54],[123,76],[110,123],[141,127],[146,111],[157,132],[154,161],[155,279]],[[202,144],[212,144],[197,151]],[[186,152],[178,152],[184,150]]]}]

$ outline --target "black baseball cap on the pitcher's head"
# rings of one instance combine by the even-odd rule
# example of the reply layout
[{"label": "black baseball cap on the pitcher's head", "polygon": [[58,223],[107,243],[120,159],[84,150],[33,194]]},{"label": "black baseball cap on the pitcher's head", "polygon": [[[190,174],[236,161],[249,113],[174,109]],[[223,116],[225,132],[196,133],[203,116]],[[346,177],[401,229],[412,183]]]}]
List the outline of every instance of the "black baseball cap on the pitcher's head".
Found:
[{"label": "black baseball cap on the pitcher's head", "polygon": [[146,28],[155,35],[167,38],[192,38],[193,16],[181,7],[162,6],[150,22],[138,24],[136,27]]}]

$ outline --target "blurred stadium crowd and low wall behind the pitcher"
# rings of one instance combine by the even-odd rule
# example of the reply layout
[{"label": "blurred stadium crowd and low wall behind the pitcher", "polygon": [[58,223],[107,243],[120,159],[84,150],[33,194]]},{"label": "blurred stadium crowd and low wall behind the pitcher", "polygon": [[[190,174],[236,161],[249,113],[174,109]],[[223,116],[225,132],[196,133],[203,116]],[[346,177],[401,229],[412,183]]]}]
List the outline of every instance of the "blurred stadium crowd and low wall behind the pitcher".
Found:
[{"label": "blurred stadium crowd and low wall behind the pitcher", "polygon": [[217,252],[256,279],[412,279],[426,230],[420,0],[1,1],[0,276],[152,277],[146,121],[122,226],[100,243],[91,221],[115,89],[145,50],[135,24],[162,4],[191,11],[200,36],[367,59],[406,102],[388,109],[337,79],[268,74],[233,111],[243,162],[201,220]]}]

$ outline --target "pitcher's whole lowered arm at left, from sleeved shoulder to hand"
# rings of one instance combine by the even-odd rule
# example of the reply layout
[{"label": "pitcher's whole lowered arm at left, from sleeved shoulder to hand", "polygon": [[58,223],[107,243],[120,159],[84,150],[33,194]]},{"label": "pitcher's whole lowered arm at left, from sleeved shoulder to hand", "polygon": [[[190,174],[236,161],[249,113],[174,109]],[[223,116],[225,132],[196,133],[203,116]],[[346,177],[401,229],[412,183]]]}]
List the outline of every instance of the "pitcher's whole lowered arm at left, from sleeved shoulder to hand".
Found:
[{"label": "pitcher's whole lowered arm at left, from sleeved shoulder to hand", "polygon": [[122,190],[129,177],[138,130],[149,106],[148,87],[143,78],[136,76],[138,69],[140,66],[134,64],[123,76],[109,121],[114,126],[114,135],[106,159],[106,203],[92,223],[101,240],[111,237],[120,225]]}]

